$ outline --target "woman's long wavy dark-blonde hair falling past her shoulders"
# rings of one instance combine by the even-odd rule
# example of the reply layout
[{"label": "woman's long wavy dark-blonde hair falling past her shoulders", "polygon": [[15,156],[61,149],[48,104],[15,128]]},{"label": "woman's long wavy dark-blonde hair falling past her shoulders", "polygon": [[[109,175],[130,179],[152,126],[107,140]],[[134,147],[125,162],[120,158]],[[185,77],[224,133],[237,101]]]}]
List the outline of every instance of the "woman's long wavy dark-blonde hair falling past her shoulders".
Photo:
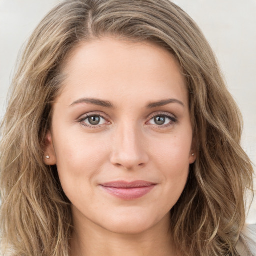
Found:
[{"label": "woman's long wavy dark-blonde hair falling past her shoulders", "polygon": [[238,255],[253,172],[240,147],[240,112],[200,29],[168,0],[67,0],[33,32],[1,126],[3,255],[68,255],[70,202],[56,166],[43,162],[45,134],[51,102],[61,92],[62,64],[80,41],[108,35],[168,49],[187,81],[197,160],[171,209],[177,248],[189,256]]}]

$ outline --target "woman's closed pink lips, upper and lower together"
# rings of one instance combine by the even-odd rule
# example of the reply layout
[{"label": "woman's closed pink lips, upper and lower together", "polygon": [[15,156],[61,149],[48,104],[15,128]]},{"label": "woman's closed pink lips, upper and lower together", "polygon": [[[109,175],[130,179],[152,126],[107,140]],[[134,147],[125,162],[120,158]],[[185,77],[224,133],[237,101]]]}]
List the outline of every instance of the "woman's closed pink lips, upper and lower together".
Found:
[{"label": "woman's closed pink lips, upper and lower together", "polygon": [[111,195],[120,199],[133,200],[149,193],[156,184],[148,181],[136,180],[133,182],[112,181],[100,185]]}]

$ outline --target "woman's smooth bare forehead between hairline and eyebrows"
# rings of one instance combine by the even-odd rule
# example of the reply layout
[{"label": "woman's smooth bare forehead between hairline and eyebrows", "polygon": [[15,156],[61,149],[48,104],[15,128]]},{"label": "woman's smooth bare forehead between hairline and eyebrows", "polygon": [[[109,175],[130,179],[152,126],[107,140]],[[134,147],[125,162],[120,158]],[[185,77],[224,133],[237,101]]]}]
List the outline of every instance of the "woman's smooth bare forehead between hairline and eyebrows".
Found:
[{"label": "woman's smooth bare forehead between hairline and eyebrows", "polygon": [[184,77],[173,55],[154,43],[102,38],[81,42],[65,61],[62,94],[75,100],[110,98],[181,97],[187,101]]}]

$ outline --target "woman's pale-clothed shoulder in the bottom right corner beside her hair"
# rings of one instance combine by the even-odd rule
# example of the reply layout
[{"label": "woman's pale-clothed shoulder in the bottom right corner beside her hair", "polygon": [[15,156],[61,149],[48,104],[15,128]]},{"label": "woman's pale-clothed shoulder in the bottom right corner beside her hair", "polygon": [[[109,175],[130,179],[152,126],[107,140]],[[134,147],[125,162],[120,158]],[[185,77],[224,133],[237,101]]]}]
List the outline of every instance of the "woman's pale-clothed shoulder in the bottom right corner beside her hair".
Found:
[{"label": "woman's pale-clothed shoulder in the bottom right corner beside her hair", "polygon": [[244,226],[236,249],[241,256],[256,256],[256,224]]}]

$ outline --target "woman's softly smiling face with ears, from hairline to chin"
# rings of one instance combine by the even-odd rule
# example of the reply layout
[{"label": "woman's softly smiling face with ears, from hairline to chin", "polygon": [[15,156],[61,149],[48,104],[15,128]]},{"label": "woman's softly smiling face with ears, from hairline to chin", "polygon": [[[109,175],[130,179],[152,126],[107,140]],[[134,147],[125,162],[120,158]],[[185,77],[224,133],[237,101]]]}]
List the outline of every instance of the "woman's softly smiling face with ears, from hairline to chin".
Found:
[{"label": "woman's softly smiling face with ears, from hairline to chin", "polygon": [[149,42],[81,43],[63,72],[47,134],[74,223],[117,233],[168,224],[192,155],[180,67]]}]

